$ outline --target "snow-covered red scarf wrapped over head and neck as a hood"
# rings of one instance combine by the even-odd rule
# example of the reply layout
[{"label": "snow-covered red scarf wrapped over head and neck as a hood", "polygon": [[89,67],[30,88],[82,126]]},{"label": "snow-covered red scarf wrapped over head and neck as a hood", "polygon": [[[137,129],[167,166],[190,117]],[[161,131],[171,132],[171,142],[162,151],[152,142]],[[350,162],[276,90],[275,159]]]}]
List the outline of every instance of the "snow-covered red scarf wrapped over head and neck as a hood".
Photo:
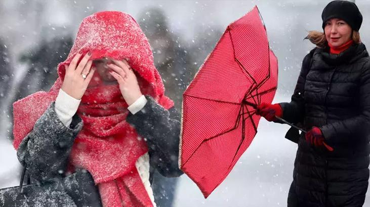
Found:
[{"label": "snow-covered red scarf wrapped over head and neck as a hood", "polygon": [[[121,12],[99,12],[81,23],[74,45],[59,78],[49,92],[39,91],[14,103],[14,147],[32,130],[61,88],[65,65],[82,51],[91,60],[128,58],[143,94],[151,95],[165,109],[174,103],[164,94],[147,38],[136,21]],[[96,72],[81,99],[77,114],[84,127],[72,146],[69,163],[87,169],[99,187],[104,206],[152,206],[135,163],[148,151],[146,142],[126,122],[128,105],[115,85],[103,85]],[[45,137],[47,138],[47,137]]]}]

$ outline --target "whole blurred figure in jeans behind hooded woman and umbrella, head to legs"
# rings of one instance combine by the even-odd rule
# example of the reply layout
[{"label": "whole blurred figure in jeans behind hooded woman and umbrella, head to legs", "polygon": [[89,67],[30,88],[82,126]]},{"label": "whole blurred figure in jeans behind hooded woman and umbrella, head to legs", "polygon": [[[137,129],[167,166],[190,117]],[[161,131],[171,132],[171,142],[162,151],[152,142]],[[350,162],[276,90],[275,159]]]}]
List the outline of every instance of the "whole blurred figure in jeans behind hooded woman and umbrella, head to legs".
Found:
[{"label": "whole blurred figure in jeans behind hooded woman and umbrella, head to legs", "polygon": [[[149,40],[155,67],[165,84],[165,93],[181,112],[182,94],[194,76],[190,54],[181,43],[181,37],[171,32],[162,10],[144,10],[139,24]],[[157,206],[173,205],[177,181],[178,178],[166,178],[158,172],[154,173],[152,188]]]}]

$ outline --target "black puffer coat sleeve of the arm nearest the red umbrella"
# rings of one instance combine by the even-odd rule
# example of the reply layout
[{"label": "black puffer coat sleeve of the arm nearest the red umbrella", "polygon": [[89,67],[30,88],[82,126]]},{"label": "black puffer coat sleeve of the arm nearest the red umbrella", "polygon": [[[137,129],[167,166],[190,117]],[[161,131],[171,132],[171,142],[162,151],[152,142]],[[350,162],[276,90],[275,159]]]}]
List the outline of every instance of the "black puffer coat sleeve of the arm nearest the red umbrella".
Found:
[{"label": "black puffer coat sleeve of the arm nearest the red umbrella", "polygon": [[310,70],[312,53],[306,55],[302,62],[301,72],[298,77],[297,85],[292,95],[291,102],[279,103],[282,108],[282,118],[290,123],[302,123],[305,114],[304,87],[306,76]]}]

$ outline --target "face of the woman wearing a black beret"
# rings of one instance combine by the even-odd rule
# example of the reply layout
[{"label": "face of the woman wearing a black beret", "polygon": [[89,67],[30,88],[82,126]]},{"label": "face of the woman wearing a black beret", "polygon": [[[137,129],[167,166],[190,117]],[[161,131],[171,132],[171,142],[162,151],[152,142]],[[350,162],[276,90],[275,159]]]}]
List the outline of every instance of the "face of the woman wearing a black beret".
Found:
[{"label": "face of the woman wearing a black beret", "polygon": [[328,20],[324,31],[327,42],[333,47],[339,47],[352,39],[352,28],[341,19]]}]

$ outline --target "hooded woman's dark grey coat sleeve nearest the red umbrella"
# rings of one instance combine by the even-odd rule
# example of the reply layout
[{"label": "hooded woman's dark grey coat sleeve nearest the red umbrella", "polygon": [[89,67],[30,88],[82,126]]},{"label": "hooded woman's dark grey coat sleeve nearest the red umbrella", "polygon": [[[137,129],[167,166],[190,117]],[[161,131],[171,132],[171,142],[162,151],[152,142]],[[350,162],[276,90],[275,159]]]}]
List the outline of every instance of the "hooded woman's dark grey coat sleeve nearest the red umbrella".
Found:
[{"label": "hooded woman's dark grey coat sleeve nearest the red umbrella", "polygon": [[129,114],[126,121],[136,128],[146,140],[149,148],[150,165],[165,177],[178,177],[179,169],[180,117],[177,110],[162,108],[150,96],[144,108],[135,115]]}]

